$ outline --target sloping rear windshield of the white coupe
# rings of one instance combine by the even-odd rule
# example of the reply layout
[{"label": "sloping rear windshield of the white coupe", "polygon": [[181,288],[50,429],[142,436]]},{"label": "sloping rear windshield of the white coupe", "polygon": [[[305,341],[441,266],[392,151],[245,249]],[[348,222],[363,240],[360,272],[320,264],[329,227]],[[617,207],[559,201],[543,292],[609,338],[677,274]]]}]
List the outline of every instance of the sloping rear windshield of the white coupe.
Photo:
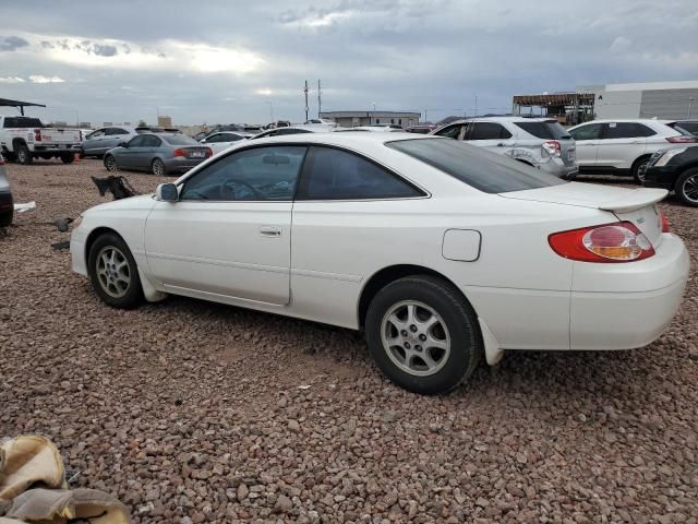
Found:
[{"label": "sloping rear windshield of the white coupe", "polygon": [[566,183],[502,154],[456,140],[412,139],[388,142],[385,145],[485,193],[506,193]]}]

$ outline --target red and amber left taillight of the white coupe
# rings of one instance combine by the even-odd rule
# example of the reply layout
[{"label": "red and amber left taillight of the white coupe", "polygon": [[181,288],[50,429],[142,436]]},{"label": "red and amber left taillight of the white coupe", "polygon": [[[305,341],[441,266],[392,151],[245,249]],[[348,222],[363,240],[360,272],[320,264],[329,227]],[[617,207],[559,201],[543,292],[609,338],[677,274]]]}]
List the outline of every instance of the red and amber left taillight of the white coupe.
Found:
[{"label": "red and amber left taillight of the white coupe", "polygon": [[580,262],[633,262],[654,254],[648,238],[631,222],[555,233],[547,242],[561,257]]}]

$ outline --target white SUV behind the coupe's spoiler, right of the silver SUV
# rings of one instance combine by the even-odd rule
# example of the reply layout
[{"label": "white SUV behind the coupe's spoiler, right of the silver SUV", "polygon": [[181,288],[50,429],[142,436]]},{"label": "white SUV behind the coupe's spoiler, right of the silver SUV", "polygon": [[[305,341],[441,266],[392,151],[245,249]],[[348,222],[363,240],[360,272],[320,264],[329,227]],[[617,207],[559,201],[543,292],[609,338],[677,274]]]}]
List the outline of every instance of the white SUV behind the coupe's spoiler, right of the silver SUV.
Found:
[{"label": "white SUV behind the coupe's spoiler, right of the silver SUV", "polygon": [[631,175],[638,183],[655,151],[698,142],[682,129],[652,119],[593,120],[570,128],[580,172]]}]

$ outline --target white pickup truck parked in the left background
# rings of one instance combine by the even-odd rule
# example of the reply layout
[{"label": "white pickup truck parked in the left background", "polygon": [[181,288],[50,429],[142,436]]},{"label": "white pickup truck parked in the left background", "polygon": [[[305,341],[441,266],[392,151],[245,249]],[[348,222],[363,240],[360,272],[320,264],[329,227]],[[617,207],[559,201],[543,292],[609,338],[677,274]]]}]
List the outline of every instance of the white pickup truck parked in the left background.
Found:
[{"label": "white pickup truck parked in the left background", "polygon": [[0,153],[20,164],[60,158],[70,164],[80,153],[80,129],[47,128],[38,118],[0,116]]}]

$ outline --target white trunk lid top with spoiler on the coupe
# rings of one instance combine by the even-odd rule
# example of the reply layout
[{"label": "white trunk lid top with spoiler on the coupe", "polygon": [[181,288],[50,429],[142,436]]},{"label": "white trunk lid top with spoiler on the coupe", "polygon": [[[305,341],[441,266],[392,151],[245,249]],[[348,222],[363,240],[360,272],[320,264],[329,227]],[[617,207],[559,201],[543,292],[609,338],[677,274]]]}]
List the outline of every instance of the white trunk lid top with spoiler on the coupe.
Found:
[{"label": "white trunk lid top with spoiler on the coupe", "polygon": [[664,199],[667,193],[665,189],[627,189],[597,183],[568,182],[500,193],[500,196],[625,213],[654,204]]}]

